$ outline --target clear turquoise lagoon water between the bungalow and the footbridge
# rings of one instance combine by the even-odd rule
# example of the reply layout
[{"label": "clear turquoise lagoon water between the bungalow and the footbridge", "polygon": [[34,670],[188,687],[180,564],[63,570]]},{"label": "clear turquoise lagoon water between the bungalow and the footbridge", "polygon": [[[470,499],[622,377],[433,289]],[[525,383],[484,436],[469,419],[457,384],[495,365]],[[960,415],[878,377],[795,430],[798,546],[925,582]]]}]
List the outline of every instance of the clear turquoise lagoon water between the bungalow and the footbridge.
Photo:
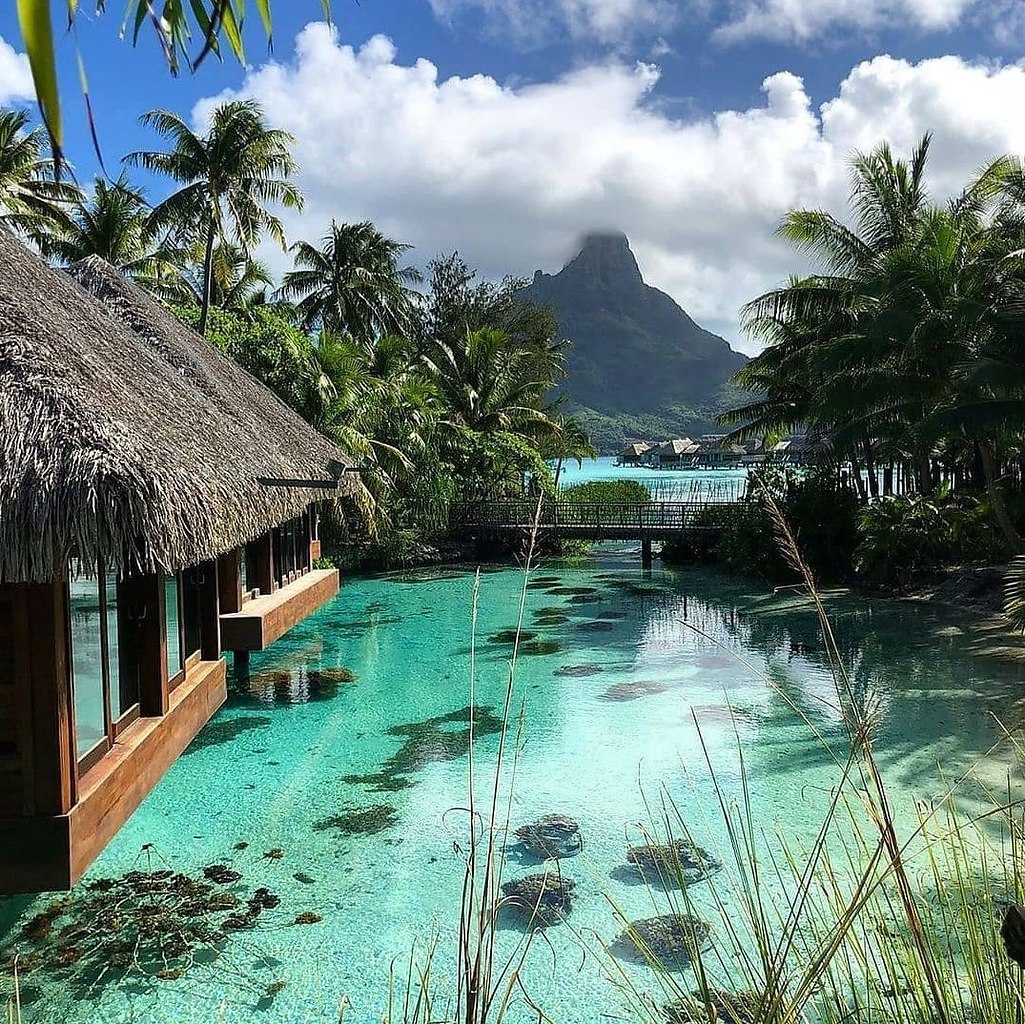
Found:
[{"label": "clear turquoise lagoon water between the bungalow and the footbridge", "polygon": [[[738,744],[743,749],[754,813],[777,851],[777,828],[790,843],[810,839],[836,777],[788,701],[843,745],[817,623],[805,604],[704,572],[646,576],[639,561],[636,551],[614,549],[574,566],[543,566],[527,591],[525,628],[546,642],[527,651],[547,653],[523,653],[517,669],[525,727],[512,824],[562,812],[579,820],[584,836],[583,851],[563,862],[577,883],[569,923],[546,930],[525,971],[531,996],[562,1024],[617,1012],[607,968],[581,954],[577,937],[593,948],[616,936],[609,899],[630,917],[666,912],[659,894],[624,870],[626,847],[647,818],[644,796],[657,804],[664,787],[695,838],[727,856],[695,718],[731,792],[739,785]],[[509,648],[489,638],[515,626],[522,581],[512,568],[480,579],[476,692],[491,707],[501,704]],[[75,998],[41,969],[28,979],[35,990],[27,1024],[334,1024],[343,998],[345,1020],[378,1021],[389,968],[401,975],[414,942],[422,948],[432,936],[444,974],[467,831],[453,809],[467,803],[467,760],[443,734],[462,728],[452,712],[467,704],[474,587],[474,574],[458,569],[350,579],[334,601],[254,657],[249,683],[236,688],[86,884],[164,862],[193,874],[221,863],[242,873],[247,893],[266,887],[281,905],[255,930],[232,933],[213,962],[177,980],[135,977]],[[545,624],[536,625],[542,608],[559,613],[546,611]],[[837,600],[832,610],[859,699],[881,715],[878,754],[907,822],[916,798],[942,792],[945,777],[996,742],[991,715],[1009,715],[1023,671],[935,611],[867,600]],[[591,674],[564,671],[581,665]],[[316,674],[340,667],[355,673],[353,683],[332,687]],[[421,729],[411,753],[408,725],[446,715],[453,721]],[[404,744],[410,756],[397,764]],[[482,795],[495,750],[494,735],[480,740]],[[989,764],[997,776],[1006,771],[1004,762]],[[376,805],[394,809],[391,827],[343,834],[331,822]],[[264,856],[276,848],[280,859]],[[506,876],[536,869],[509,852]],[[706,886],[691,895],[714,927]],[[77,897],[83,892],[80,886]],[[0,915],[22,911],[24,920],[45,903],[8,901]],[[323,919],[293,924],[302,911]],[[8,923],[8,942],[18,931]],[[515,928],[501,932],[505,950],[521,939]],[[623,970],[641,990],[653,987],[647,967]],[[276,981],[284,987],[266,998]],[[521,1010],[514,1019],[531,1019]]]}]

